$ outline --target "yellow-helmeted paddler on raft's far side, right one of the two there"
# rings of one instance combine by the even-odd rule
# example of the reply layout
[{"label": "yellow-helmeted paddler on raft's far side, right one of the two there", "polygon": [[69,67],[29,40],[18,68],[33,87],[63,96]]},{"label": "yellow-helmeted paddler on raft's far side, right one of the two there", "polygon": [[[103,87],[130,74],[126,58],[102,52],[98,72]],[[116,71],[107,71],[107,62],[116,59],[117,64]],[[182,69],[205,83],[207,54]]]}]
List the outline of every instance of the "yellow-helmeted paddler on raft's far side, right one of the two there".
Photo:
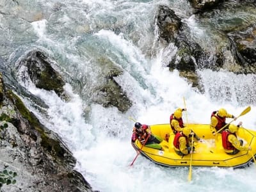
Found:
[{"label": "yellow-helmeted paddler on raft's far side, right one of the two there", "polygon": [[[234,118],[236,120],[236,116],[227,113],[226,109],[221,108],[219,111],[213,111],[211,114],[211,124],[210,130],[212,134],[215,136],[216,132],[219,131],[222,127],[224,127],[226,123],[226,118]],[[220,131],[220,133],[223,130]]]}]

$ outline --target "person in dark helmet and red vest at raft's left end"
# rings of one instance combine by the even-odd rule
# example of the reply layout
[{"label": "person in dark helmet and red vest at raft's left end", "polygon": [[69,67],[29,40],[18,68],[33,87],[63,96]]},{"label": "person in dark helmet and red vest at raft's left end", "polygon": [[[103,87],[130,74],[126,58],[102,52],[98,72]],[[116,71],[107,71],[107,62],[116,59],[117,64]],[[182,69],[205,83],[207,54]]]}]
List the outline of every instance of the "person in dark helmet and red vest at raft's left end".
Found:
[{"label": "person in dark helmet and red vest at raft's left end", "polygon": [[162,146],[159,144],[161,141],[163,141],[162,138],[159,136],[155,136],[150,133],[150,126],[145,124],[140,124],[139,122],[136,122],[134,124],[133,130],[132,130],[132,142],[134,143],[136,140],[139,140],[142,145],[145,145],[145,147],[151,147],[161,150]]}]

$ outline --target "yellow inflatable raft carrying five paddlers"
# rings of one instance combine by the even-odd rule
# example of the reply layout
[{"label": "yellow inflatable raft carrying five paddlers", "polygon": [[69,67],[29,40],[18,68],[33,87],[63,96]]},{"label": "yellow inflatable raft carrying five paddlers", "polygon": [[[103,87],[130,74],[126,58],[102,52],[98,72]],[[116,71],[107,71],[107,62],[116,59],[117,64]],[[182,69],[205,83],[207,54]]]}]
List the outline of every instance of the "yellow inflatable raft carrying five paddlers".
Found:
[{"label": "yellow inflatable raft carrying five paddlers", "polygon": [[[193,152],[192,166],[218,166],[242,168],[253,162],[253,156],[256,154],[256,131],[240,127],[237,131],[237,138],[243,139],[244,145],[250,145],[251,151],[240,151],[236,155],[228,155],[222,147],[221,134],[213,136],[208,124],[187,124],[196,135],[204,139],[202,143],[195,143],[195,152]],[[160,136],[163,141],[160,143],[162,150],[155,148],[142,147],[140,141],[132,143],[135,150],[147,157],[156,164],[170,167],[189,166],[191,154],[179,156],[173,149],[174,134],[170,124],[150,125],[152,134]],[[166,135],[170,138],[166,141]]]}]

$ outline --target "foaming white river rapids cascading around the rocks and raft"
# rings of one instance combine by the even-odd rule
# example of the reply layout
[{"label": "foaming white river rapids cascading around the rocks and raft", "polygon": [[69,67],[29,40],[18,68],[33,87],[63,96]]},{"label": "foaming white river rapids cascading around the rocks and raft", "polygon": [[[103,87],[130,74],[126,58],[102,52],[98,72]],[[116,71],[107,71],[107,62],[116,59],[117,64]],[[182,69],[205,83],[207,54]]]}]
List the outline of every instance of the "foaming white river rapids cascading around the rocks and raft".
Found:
[{"label": "foaming white river rapids cascading around the rocks and raft", "polygon": [[[12,61],[26,50],[36,48],[60,63],[68,82],[65,85],[70,95],[68,102],[55,93],[35,88],[29,81],[22,81],[18,72],[17,81],[49,106],[45,109],[47,115],[33,107],[33,100],[20,97],[43,124],[67,143],[77,159],[77,170],[93,189],[102,192],[255,191],[255,166],[242,170],[193,168],[192,182],[187,180],[188,168],[164,168],[141,156],[129,166],[136,156],[130,144],[134,122],[129,116],[143,124],[168,123],[174,109],[184,107],[183,97],[189,122],[209,124],[214,110],[223,107],[239,115],[251,105],[250,113],[241,116],[239,121],[244,122],[244,127],[255,129],[256,110],[252,105],[255,75],[198,70],[205,90],[199,93],[186,79],[179,77],[177,70],[170,72],[164,67],[164,56],[172,56],[175,47],[169,45],[164,50],[160,47],[152,58],[145,54],[154,45],[152,28],[158,4],[172,6],[189,24],[193,38],[209,37],[203,32],[209,33],[211,26],[200,26],[190,17],[191,7],[187,1],[14,2],[5,2],[10,13],[2,8],[10,17],[0,14],[0,30],[6,37],[5,42],[1,40],[6,45],[0,50],[1,56],[10,61],[12,68]],[[28,5],[38,11],[36,17],[42,13],[42,19],[29,23],[29,17],[36,14],[26,10]],[[102,74],[97,66],[97,58],[102,56],[124,70],[115,81],[122,86],[133,106],[126,113],[120,113],[116,108],[92,104],[90,115],[85,118],[83,109],[89,105],[88,93],[97,86]]]}]

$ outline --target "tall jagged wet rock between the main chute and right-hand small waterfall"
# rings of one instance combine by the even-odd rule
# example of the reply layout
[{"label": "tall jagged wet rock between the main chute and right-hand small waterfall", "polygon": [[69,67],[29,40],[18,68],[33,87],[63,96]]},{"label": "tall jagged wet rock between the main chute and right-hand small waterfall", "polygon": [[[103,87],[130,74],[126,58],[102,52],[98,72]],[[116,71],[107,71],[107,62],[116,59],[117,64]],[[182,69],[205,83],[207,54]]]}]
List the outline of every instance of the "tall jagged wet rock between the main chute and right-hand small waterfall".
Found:
[{"label": "tall jagged wet rock between the main chute and right-hand small waterfall", "polygon": [[[157,26],[159,28],[160,41],[173,43],[177,47],[176,54],[168,62],[170,71],[175,69],[180,71],[180,76],[184,76],[197,86],[196,68],[202,66],[205,52],[184,33],[188,27],[181,22],[181,19],[175,15],[175,12],[167,6],[159,6],[157,13]],[[189,74],[189,75],[188,75]]]}]

